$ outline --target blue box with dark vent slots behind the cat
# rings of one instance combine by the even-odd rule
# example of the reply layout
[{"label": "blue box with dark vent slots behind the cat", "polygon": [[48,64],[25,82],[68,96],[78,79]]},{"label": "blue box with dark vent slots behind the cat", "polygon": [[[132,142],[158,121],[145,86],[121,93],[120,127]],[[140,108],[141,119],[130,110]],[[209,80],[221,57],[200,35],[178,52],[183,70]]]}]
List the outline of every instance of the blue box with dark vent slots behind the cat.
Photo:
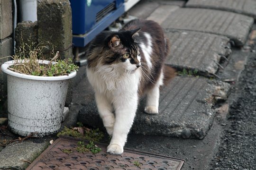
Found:
[{"label": "blue box with dark vent slots behind the cat", "polygon": [[124,13],[124,0],[70,0],[74,46],[83,47]]}]

